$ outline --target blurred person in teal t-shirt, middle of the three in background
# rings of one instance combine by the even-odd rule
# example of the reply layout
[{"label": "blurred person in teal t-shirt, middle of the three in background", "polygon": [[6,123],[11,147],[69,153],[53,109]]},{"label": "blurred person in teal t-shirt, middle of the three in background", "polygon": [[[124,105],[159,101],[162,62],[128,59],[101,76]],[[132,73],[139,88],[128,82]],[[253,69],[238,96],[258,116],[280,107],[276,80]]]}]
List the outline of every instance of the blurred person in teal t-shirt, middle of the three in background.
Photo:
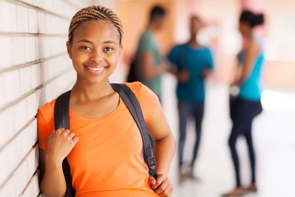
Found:
[{"label": "blurred person in teal t-shirt, middle of the three in background", "polygon": [[[197,158],[201,126],[204,115],[205,87],[204,80],[213,68],[213,59],[210,50],[197,41],[197,34],[202,27],[198,16],[190,18],[190,40],[187,43],[175,46],[168,60],[172,66],[171,72],[177,77],[177,99],[179,114],[179,172],[183,178],[186,175],[196,179],[194,164]],[[183,170],[183,149],[186,138],[186,124],[188,118],[193,117],[196,123],[196,142],[189,174]]]}]

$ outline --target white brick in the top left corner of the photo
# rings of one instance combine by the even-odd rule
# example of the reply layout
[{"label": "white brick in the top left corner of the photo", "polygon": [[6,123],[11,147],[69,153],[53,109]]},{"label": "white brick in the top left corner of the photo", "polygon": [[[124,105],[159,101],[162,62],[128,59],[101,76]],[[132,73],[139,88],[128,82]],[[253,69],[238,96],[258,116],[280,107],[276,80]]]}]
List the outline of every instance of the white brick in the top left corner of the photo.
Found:
[{"label": "white brick in the top left corner of the photo", "polygon": [[0,31],[17,32],[15,4],[0,1]]}]

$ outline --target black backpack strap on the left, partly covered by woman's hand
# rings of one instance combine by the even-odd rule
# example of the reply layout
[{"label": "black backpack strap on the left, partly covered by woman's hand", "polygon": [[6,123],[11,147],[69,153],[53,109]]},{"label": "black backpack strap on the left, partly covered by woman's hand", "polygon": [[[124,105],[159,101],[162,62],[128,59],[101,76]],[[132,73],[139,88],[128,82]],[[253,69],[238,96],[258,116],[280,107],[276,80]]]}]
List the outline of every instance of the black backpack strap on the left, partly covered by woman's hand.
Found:
[{"label": "black backpack strap on the left, partly covered by woman's hand", "polygon": [[[54,107],[54,125],[55,130],[59,128],[70,128],[70,116],[69,116],[69,101],[71,91],[63,93],[58,97]],[[72,186],[72,176],[70,171],[70,165],[66,158],[62,161],[62,171],[66,183],[66,196],[75,197],[75,190]]]}]

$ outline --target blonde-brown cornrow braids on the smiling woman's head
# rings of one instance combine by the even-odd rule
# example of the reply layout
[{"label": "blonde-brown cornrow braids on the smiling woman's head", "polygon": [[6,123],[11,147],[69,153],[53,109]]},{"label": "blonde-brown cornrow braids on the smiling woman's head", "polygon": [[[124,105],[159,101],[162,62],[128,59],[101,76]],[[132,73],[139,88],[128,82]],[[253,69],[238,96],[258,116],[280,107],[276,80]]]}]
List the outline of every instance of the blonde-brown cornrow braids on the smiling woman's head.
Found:
[{"label": "blonde-brown cornrow braids on the smiling woman's head", "polygon": [[78,11],[69,27],[68,39],[71,42],[74,30],[83,22],[88,20],[102,19],[110,21],[118,30],[120,34],[120,43],[123,37],[123,25],[119,17],[111,9],[102,6],[88,6]]}]

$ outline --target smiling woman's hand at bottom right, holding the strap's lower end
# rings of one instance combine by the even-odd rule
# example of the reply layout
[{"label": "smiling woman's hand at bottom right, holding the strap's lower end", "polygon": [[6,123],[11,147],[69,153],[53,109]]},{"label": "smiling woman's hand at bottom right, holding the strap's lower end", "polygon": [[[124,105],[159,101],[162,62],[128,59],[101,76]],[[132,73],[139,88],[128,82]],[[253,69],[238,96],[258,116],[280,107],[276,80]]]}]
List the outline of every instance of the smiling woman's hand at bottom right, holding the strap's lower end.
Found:
[{"label": "smiling woman's hand at bottom right, holding the strap's lower end", "polygon": [[164,174],[158,174],[157,180],[149,176],[148,182],[151,184],[151,189],[160,197],[170,197],[173,193],[172,184]]}]

